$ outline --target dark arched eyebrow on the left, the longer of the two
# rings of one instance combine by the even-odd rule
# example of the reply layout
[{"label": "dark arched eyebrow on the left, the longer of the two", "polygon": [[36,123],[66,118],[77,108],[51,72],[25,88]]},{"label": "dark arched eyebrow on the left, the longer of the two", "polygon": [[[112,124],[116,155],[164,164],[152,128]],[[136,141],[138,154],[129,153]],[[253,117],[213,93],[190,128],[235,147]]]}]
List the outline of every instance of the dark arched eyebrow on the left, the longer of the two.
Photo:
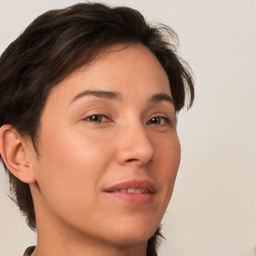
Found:
[{"label": "dark arched eyebrow on the left, the longer of the two", "polygon": [[118,100],[118,101],[122,100],[121,94],[117,91],[89,90],[88,89],[88,90],[84,90],[84,91],[78,93],[77,95],[75,95],[69,103],[73,103],[78,98],[81,98],[81,97],[84,97],[87,95],[93,95],[96,97],[102,97],[102,98],[111,99],[111,100]]}]

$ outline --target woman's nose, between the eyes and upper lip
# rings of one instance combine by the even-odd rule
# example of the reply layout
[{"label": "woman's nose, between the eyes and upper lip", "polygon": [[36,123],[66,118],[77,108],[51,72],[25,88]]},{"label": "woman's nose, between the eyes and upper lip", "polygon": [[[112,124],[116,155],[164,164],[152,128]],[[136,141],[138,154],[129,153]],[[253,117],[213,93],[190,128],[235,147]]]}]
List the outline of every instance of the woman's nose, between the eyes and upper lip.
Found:
[{"label": "woman's nose, between the eyes and upper lip", "polygon": [[134,163],[142,166],[153,157],[153,145],[140,122],[122,129],[118,136],[118,142],[116,160],[121,165]]}]

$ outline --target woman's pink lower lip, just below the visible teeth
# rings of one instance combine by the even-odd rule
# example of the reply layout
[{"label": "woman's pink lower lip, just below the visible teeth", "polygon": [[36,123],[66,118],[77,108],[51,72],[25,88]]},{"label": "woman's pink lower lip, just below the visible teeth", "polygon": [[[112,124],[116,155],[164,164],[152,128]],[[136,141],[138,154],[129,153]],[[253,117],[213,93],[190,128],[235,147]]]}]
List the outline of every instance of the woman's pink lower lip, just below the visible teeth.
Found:
[{"label": "woman's pink lower lip, just below the visible teeth", "polygon": [[128,202],[134,205],[143,205],[153,201],[154,194],[151,193],[125,193],[125,192],[106,192],[117,200]]}]

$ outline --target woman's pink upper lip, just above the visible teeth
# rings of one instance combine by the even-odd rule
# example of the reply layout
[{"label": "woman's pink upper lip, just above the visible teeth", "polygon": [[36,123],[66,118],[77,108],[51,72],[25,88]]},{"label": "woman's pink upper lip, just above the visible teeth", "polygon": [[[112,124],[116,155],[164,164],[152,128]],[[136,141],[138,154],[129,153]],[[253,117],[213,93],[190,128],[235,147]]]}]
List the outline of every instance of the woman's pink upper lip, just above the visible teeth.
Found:
[{"label": "woman's pink upper lip, just above the visible teeth", "polygon": [[104,192],[112,192],[114,190],[125,189],[125,188],[145,188],[148,189],[149,193],[155,193],[155,185],[148,179],[138,180],[126,180],[104,189]]}]

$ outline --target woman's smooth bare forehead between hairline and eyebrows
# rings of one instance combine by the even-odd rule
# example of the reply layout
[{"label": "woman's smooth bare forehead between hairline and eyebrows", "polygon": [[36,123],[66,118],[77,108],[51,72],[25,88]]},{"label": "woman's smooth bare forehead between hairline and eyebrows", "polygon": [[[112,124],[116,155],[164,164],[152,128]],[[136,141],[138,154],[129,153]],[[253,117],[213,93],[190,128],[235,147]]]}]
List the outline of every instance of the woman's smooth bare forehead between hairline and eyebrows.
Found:
[{"label": "woman's smooth bare forehead between hairline and eyebrows", "polygon": [[165,92],[171,96],[168,77],[155,55],[141,44],[115,44],[101,51],[55,86],[49,98],[70,102],[84,89],[139,96]]}]

